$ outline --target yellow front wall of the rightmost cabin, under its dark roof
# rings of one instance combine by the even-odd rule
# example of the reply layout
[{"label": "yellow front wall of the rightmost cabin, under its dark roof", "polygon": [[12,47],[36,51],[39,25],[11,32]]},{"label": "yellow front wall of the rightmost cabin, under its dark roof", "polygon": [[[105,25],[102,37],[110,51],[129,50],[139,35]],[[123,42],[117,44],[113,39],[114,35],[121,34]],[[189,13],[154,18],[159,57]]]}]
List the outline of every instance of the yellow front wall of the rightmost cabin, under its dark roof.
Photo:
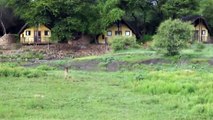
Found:
[{"label": "yellow front wall of the rightmost cabin, under its dark roof", "polygon": [[[197,33],[196,33],[196,31],[197,31]],[[203,32],[205,32],[205,34],[203,34]],[[203,23],[200,23],[195,26],[195,38],[202,42],[208,42],[209,32]]]}]

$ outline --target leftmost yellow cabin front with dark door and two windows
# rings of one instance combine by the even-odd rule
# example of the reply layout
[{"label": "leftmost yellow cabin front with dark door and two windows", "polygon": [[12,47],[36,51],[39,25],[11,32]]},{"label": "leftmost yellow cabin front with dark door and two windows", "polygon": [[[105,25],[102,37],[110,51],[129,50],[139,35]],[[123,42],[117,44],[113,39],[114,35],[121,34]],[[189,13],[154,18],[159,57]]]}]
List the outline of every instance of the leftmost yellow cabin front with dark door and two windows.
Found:
[{"label": "leftmost yellow cabin front with dark door and two windows", "polygon": [[48,44],[51,30],[45,25],[28,27],[21,32],[19,37],[22,44]]}]

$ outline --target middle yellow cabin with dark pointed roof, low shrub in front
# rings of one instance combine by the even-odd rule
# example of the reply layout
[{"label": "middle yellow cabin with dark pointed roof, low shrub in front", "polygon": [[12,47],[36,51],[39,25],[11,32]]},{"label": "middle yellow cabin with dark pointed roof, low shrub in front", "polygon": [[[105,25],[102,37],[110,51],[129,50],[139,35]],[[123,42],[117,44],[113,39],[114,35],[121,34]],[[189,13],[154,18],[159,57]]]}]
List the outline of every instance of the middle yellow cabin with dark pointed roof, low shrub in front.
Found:
[{"label": "middle yellow cabin with dark pointed roof, low shrub in front", "polygon": [[125,21],[118,21],[112,24],[107,30],[106,33],[98,35],[98,43],[105,44],[110,42],[115,36],[126,36],[132,37],[135,36],[134,30],[128,25]]}]

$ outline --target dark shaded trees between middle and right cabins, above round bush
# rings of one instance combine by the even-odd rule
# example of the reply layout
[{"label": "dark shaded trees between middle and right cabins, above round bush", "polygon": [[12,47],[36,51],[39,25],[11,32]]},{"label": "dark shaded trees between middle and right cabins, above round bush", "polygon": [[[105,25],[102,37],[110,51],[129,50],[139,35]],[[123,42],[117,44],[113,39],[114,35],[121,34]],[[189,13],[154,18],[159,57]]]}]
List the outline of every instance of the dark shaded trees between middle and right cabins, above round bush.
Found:
[{"label": "dark shaded trees between middle and right cabins, above round bush", "polygon": [[196,14],[198,0],[121,0],[124,18],[131,21],[138,31],[138,38],[154,34],[159,24],[169,18],[177,19]]}]

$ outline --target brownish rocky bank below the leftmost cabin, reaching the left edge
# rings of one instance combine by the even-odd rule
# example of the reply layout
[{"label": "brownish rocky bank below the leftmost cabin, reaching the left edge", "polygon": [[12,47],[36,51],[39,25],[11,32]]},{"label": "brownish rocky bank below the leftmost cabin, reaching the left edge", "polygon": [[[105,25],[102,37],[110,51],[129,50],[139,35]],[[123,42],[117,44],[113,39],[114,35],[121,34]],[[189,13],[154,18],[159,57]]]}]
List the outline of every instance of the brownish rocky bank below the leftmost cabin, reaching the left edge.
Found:
[{"label": "brownish rocky bank below the leftmost cabin, reaching the left edge", "polygon": [[66,57],[101,55],[107,52],[106,46],[96,44],[77,46],[70,44],[22,45],[18,47],[0,50],[0,55],[12,56],[31,52],[32,54],[41,54],[44,60],[54,60]]}]

